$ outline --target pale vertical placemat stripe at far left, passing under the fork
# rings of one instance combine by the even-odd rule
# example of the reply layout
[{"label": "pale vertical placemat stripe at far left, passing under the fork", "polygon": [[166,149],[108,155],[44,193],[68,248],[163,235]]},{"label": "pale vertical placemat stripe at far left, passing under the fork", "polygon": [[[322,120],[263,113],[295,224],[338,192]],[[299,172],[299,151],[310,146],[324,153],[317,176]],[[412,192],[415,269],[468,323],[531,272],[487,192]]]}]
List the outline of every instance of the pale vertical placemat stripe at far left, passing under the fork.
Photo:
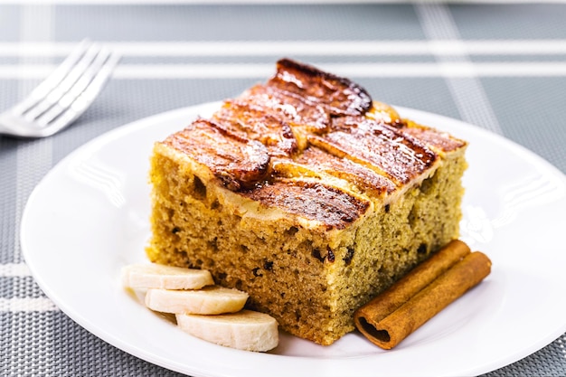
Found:
[{"label": "pale vertical placemat stripe at far left, passing under the fork", "polygon": [[[52,40],[54,25],[52,24],[52,5],[35,4],[23,5],[20,8],[20,41],[21,42],[49,42]],[[29,64],[46,64],[52,63],[50,57],[37,56],[21,56],[20,65]],[[35,85],[37,80],[19,80],[18,95],[24,98]],[[26,143],[18,143],[16,150],[16,175],[15,175],[15,223],[20,224],[24,205],[33,191],[33,187],[38,184],[43,175],[52,167],[52,138],[46,137],[29,141]],[[13,265],[5,267],[5,273],[12,276],[22,276],[28,271],[24,268],[24,259],[21,254],[20,229],[15,229],[14,234],[14,260]],[[19,275],[22,274],[22,275]],[[33,294],[33,288],[14,284],[12,288],[12,297],[0,298],[0,312],[9,313],[46,313],[54,312],[59,309],[47,297],[29,297]],[[25,295],[25,296],[24,296]],[[24,296],[24,297],[23,297]],[[27,297],[26,297],[27,296]],[[42,326],[41,323],[28,324],[29,328],[37,329]],[[13,325],[8,330],[6,349],[18,350],[17,357],[21,360],[34,360],[33,366],[36,371],[54,370],[57,357],[55,354],[55,340],[52,331],[48,331],[46,335],[34,339],[33,347],[21,347],[22,331],[21,325]],[[39,353],[38,353],[39,352]],[[12,356],[14,356],[13,353]],[[41,357],[37,357],[41,354]]]}]

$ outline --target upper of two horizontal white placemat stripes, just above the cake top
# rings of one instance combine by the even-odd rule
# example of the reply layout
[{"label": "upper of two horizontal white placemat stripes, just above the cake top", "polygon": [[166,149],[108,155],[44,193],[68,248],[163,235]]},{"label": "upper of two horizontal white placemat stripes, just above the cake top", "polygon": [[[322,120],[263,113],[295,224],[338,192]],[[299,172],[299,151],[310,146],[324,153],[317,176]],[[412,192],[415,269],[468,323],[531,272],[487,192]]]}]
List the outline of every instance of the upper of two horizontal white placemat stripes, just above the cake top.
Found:
[{"label": "upper of two horizontal white placemat stripes, just above the cake top", "polygon": [[[0,42],[0,56],[64,56],[76,42]],[[564,55],[566,40],[104,42],[122,56]]]}]

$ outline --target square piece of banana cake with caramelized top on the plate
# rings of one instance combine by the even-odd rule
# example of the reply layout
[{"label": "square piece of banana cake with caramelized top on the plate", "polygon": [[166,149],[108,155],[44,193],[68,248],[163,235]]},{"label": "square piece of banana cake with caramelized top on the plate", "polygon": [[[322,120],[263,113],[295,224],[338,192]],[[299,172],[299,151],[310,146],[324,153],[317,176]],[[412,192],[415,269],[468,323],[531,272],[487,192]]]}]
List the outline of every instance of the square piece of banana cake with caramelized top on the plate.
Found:
[{"label": "square piece of banana cake with caramelized top on the plate", "polygon": [[467,142],[297,61],[156,142],[150,260],[208,269],[292,335],[355,309],[458,238]]}]

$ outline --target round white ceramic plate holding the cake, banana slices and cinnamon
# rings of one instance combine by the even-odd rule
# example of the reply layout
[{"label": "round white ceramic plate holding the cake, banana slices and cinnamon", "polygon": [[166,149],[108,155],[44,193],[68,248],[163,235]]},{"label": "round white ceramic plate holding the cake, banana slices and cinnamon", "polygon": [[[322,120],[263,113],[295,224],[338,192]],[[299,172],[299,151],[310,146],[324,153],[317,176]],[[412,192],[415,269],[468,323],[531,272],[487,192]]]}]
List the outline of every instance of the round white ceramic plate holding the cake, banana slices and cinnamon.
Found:
[{"label": "round white ceramic plate holding the cake, banana slices and cinnamon", "polygon": [[566,331],[566,178],[503,137],[409,108],[401,115],[470,142],[462,238],[492,274],[392,351],[351,333],[323,347],[290,335],[250,353],[184,334],[120,286],[146,260],[148,158],[154,141],[218,103],[182,108],[108,132],[67,156],[31,195],[24,258],[45,294],[109,344],[193,376],[476,375],[514,363]]}]

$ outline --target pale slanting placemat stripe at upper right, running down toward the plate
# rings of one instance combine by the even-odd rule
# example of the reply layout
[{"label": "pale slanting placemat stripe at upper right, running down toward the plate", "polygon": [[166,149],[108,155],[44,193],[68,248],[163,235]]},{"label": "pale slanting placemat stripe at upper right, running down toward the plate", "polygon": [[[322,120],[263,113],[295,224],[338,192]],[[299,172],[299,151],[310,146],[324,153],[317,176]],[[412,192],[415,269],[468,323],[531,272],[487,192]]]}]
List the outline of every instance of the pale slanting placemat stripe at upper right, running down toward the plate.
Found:
[{"label": "pale slanting placemat stripe at upper right, running down toward the plate", "polygon": [[[458,27],[448,7],[441,4],[419,4],[415,5],[415,9],[424,33],[432,41],[431,46],[437,46],[434,49],[437,61],[439,61],[440,69],[446,71],[444,76],[460,117],[468,123],[502,134],[503,131],[487,99],[486,92],[477,79],[476,63],[469,59],[466,46],[460,40]],[[441,53],[438,47],[441,41],[453,42],[455,46],[459,46],[459,52],[449,55]],[[463,71],[468,71],[469,75],[458,77],[451,74],[449,67],[454,64],[458,64]]]}]

